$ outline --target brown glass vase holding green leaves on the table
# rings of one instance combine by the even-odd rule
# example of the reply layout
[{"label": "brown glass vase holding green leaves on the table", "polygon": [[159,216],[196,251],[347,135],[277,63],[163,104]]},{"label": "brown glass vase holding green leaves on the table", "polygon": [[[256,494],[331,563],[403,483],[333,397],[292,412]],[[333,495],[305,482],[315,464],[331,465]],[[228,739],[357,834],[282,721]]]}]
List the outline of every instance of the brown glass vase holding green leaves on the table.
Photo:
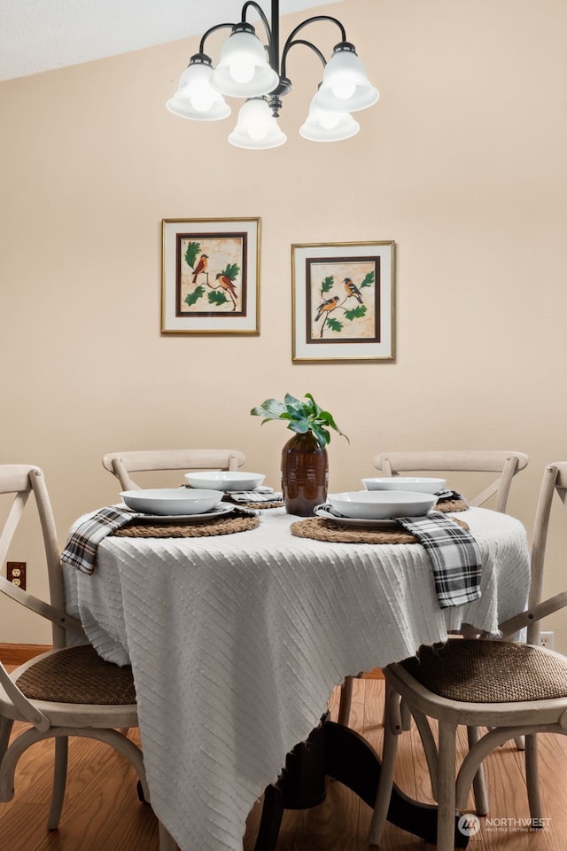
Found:
[{"label": "brown glass vase holding green leaves on the table", "polygon": [[329,460],[311,432],[296,434],[282,449],[282,491],[285,511],[311,517],[327,499]]}]

